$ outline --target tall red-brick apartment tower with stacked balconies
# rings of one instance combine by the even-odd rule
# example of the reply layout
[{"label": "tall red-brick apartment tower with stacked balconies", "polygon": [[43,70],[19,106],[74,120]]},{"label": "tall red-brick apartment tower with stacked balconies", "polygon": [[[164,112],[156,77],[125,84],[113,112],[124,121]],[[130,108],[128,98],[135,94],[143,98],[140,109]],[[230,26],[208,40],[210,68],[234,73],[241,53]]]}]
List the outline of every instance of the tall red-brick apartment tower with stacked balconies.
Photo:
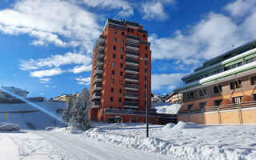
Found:
[{"label": "tall red-brick apartment tower with stacked balconies", "polygon": [[[94,47],[90,81],[92,120],[145,122],[146,92],[151,106],[151,52],[147,38],[147,31],[137,22],[106,21]],[[148,70],[146,60],[141,58],[148,59]]]}]

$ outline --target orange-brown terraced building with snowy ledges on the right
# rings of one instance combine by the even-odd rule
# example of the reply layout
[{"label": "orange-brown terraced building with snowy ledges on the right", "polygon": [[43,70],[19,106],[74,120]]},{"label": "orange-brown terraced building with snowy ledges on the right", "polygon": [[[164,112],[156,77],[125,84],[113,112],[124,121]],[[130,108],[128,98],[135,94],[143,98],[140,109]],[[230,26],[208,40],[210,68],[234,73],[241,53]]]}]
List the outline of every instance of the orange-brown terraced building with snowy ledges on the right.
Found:
[{"label": "orange-brown terraced building with snowy ledges on the right", "polygon": [[256,123],[256,41],[204,62],[182,81],[178,121]]}]

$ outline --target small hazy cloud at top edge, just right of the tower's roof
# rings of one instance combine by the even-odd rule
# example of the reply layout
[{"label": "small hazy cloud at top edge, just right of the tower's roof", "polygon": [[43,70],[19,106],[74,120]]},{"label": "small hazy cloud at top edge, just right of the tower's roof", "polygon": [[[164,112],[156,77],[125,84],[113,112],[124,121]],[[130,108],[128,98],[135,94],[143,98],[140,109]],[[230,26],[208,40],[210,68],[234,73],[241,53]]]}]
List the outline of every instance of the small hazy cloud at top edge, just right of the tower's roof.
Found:
[{"label": "small hazy cloud at top edge, just right of the tower's roof", "polygon": [[169,18],[166,14],[164,7],[170,4],[174,5],[175,0],[153,0],[150,2],[142,2],[142,18],[143,19],[155,19],[165,20]]}]

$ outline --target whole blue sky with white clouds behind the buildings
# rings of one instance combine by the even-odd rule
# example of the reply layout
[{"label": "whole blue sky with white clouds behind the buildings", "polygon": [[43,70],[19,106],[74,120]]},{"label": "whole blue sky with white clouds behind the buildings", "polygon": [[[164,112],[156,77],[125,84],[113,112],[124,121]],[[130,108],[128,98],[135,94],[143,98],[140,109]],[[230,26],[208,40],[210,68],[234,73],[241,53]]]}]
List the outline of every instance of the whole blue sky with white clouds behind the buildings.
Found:
[{"label": "whole blue sky with white clouds behind the buildings", "polygon": [[152,89],[170,92],[207,59],[256,39],[254,0],[3,0],[0,83],[54,98],[90,87],[92,50],[107,18],[149,32]]}]

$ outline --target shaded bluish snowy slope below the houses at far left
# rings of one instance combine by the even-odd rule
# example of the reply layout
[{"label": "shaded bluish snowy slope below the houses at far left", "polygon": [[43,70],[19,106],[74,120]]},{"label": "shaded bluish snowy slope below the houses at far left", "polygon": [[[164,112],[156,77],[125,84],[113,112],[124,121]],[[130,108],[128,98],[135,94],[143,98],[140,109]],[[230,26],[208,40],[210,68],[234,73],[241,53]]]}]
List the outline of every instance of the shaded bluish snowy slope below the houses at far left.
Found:
[{"label": "shaded bluish snowy slope below the houses at far left", "polygon": [[[57,118],[62,116],[62,113],[58,112],[58,110],[62,110],[66,107],[65,102],[45,101],[34,102],[34,104],[42,107],[43,110],[54,114]],[[34,110],[34,112],[23,113],[23,110]],[[18,111],[18,113],[9,113],[6,118],[6,111]],[[54,126],[54,123],[55,126],[62,126],[62,122],[59,122],[57,118],[53,118],[45,112],[26,103],[0,104],[0,122],[16,123],[21,129],[45,130],[47,126]]]}]

